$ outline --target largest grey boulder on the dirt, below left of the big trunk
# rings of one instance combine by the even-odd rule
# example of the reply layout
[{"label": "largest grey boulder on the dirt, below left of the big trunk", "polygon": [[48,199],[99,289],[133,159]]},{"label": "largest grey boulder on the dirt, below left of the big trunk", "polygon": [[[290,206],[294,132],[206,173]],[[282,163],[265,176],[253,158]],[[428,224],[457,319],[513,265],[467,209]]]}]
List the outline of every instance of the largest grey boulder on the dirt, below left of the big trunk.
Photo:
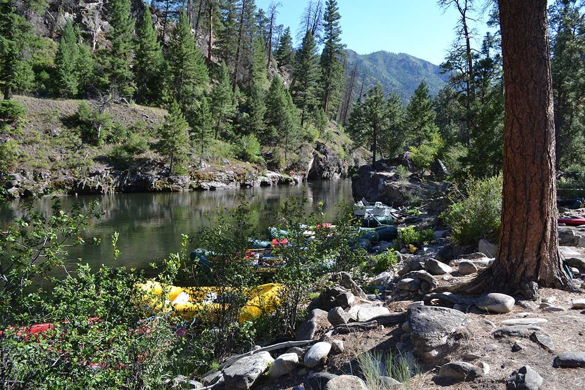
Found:
[{"label": "largest grey boulder on the dirt, below left of the big trunk", "polygon": [[472,322],[459,310],[435,306],[409,309],[407,320],[414,352],[425,360],[443,357],[466,336],[466,327]]}]

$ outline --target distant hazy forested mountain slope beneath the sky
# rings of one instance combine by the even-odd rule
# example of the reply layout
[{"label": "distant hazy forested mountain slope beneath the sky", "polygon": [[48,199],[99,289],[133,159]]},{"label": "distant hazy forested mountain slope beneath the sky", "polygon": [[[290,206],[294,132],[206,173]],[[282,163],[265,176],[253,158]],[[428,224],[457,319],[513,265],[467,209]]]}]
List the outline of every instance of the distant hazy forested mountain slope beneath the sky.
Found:
[{"label": "distant hazy forested mountain slope beneath the sky", "polygon": [[359,95],[362,77],[365,77],[364,93],[379,82],[384,92],[394,92],[400,95],[404,102],[408,102],[421,80],[426,81],[433,95],[439,92],[446,80],[445,75],[440,73],[438,65],[409,54],[376,51],[362,55],[353,50],[346,51],[348,73],[351,73],[356,64],[358,69],[354,96]]}]

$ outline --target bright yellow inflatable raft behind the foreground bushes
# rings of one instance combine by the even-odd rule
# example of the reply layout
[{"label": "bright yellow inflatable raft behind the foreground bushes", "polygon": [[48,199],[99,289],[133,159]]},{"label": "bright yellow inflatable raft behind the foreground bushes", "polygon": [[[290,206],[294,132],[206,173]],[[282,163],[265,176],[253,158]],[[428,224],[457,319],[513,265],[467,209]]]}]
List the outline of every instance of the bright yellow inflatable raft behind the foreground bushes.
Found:
[{"label": "bright yellow inflatable raft behind the foreground bushes", "polygon": [[[230,288],[218,287],[176,287],[162,285],[156,281],[139,284],[139,287],[147,293],[144,300],[154,308],[161,309],[166,306],[167,310],[172,308],[185,318],[203,316],[207,319],[210,317],[212,319],[221,313],[222,308],[227,307],[226,301],[229,301],[229,294],[232,291]],[[245,291],[243,295],[247,301],[240,310],[239,322],[273,312],[278,305],[277,295],[282,287],[281,284],[269,283]],[[161,301],[163,295],[166,305]],[[226,298],[222,299],[222,295]]]}]

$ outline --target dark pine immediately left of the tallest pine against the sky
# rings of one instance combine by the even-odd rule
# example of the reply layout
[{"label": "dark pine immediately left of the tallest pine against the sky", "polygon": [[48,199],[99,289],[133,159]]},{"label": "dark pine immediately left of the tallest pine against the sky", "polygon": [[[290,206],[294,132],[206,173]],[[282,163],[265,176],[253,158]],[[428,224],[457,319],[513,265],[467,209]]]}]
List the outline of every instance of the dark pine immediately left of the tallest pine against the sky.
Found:
[{"label": "dark pine immediately left of the tallest pine against the sky", "polygon": [[297,53],[292,85],[294,102],[301,111],[301,127],[305,124],[307,114],[316,105],[318,61],[315,39],[311,32],[307,32]]}]

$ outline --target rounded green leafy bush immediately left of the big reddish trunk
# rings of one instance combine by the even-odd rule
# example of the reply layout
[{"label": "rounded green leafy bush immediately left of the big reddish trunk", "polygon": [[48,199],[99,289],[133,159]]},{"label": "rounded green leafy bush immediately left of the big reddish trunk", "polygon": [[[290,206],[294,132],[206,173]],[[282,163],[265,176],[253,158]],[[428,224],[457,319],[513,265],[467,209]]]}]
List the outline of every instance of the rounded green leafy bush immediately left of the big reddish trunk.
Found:
[{"label": "rounded green leafy bush immediately left of the big reddish trunk", "polygon": [[452,229],[457,244],[474,244],[482,238],[498,240],[502,211],[502,175],[475,179],[467,185],[467,196],[441,214]]}]

